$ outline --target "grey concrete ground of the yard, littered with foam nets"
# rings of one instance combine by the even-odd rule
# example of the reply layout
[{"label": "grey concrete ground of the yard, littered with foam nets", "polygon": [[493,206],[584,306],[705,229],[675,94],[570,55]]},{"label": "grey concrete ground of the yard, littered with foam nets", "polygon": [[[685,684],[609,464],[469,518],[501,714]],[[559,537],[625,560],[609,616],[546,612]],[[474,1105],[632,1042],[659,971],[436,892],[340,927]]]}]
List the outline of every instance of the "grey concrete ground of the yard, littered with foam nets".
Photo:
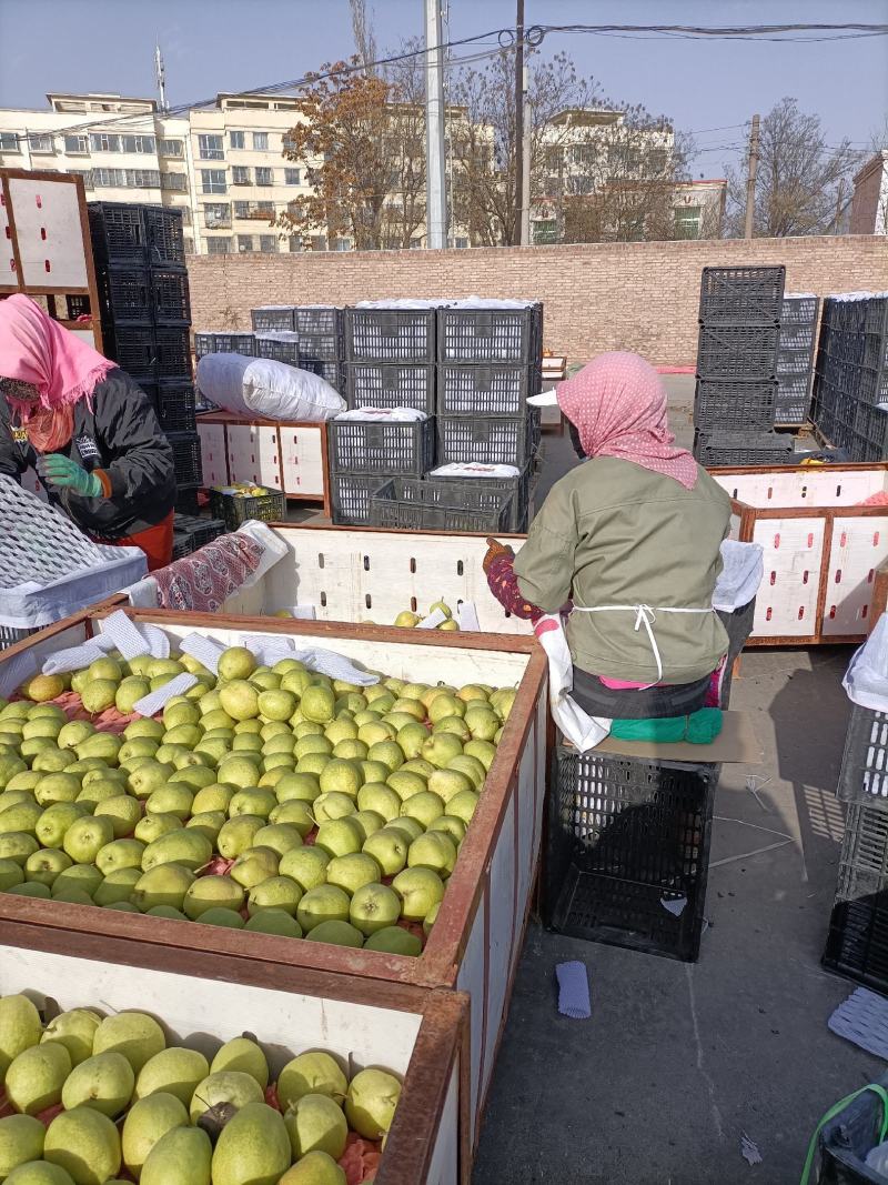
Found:
[{"label": "grey concrete ground of the yard, littered with foam nets", "polygon": [[[668,385],[674,430],[690,443],[693,380]],[[567,437],[545,440],[540,493],[571,463]],[[791,1185],[824,1112],[884,1072],[828,1031],[854,985],[819,966],[850,653],[742,659],[732,706],[749,713],[765,761],[723,767],[697,963],[530,925],[474,1185]],[[554,968],[573,959],[588,971],[590,1020],[556,1010]],[[755,1167],[742,1133],[760,1151]]]}]

